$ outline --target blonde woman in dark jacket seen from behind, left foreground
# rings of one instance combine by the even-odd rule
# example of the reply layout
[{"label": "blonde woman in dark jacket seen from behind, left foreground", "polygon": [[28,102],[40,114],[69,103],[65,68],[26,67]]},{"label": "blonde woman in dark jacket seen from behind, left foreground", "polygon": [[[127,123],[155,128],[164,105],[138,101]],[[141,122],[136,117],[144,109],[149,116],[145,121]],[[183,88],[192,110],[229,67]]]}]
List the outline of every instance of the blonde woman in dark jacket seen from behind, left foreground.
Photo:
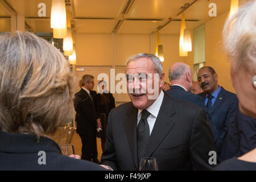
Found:
[{"label": "blonde woman in dark jacket seen from behind, left foreground", "polygon": [[0,170],[102,169],[50,139],[73,117],[73,75],[60,51],[30,32],[0,35],[0,82]]}]

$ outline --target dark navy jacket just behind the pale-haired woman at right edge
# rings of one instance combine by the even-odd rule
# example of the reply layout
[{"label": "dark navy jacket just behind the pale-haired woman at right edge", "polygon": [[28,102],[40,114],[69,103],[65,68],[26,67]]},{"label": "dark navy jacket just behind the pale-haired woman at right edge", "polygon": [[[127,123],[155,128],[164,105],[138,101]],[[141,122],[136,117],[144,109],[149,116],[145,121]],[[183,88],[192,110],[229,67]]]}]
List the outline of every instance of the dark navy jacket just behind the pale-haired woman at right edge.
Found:
[{"label": "dark navy jacket just behind the pale-haired woman at right edge", "polygon": [[230,121],[221,146],[220,161],[239,157],[256,147],[256,119],[240,112]]}]

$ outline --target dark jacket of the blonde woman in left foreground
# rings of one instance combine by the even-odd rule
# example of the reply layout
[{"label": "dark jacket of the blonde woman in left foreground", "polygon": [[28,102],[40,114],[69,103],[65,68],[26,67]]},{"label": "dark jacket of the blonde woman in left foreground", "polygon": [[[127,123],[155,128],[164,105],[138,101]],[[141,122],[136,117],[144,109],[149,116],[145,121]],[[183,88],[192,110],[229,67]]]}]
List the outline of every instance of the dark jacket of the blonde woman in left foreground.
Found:
[{"label": "dark jacket of the blonde woman in left foreground", "polygon": [[[61,154],[53,140],[35,135],[14,134],[0,131],[0,171],[1,170],[104,170],[95,163],[69,158]],[[39,151],[46,152],[46,164],[39,164],[43,157]],[[39,159],[40,158],[40,159]]]}]

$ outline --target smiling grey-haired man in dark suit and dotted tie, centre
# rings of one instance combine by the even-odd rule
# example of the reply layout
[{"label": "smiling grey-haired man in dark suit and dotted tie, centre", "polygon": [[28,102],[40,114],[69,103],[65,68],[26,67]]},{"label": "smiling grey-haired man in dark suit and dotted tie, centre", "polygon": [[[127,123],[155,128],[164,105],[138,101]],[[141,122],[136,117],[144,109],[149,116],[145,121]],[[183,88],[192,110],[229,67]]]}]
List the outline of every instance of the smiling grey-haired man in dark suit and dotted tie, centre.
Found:
[{"label": "smiling grey-haired man in dark suit and dotted tie, centre", "polygon": [[210,169],[209,152],[215,147],[207,114],[163,92],[159,58],[131,57],[126,77],[131,102],[110,111],[102,167],[138,170],[141,158],[153,157],[159,170]]}]

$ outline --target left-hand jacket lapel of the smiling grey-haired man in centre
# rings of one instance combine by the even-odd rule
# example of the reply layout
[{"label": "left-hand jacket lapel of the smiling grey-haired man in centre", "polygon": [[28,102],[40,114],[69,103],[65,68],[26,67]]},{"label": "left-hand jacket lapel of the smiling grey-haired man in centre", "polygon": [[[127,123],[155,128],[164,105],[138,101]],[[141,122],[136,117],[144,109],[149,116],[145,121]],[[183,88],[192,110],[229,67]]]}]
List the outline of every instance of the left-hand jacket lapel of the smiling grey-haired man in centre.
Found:
[{"label": "left-hand jacket lapel of the smiling grey-haired man in centre", "polygon": [[138,168],[137,164],[137,117],[138,117],[138,109],[135,107],[131,107],[131,109],[127,112],[125,118],[125,128],[127,139],[129,142],[131,155],[133,155],[133,161],[135,166]]}]

